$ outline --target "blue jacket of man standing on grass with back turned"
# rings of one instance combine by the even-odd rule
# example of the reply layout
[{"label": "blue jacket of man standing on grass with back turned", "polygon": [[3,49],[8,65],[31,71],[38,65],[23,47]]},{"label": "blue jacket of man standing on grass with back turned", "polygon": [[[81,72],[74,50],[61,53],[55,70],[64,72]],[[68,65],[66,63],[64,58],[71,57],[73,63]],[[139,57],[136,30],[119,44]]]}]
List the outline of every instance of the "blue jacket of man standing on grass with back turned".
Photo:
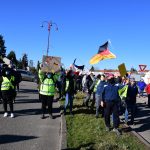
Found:
[{"label": "blue jacket of man standing on grass with back turned", "polygon": [[108,83],[104,86],[104,90],[102,92],[102,99],[105,102],[112,102],[119,100],[119,87],[113,84]]}]

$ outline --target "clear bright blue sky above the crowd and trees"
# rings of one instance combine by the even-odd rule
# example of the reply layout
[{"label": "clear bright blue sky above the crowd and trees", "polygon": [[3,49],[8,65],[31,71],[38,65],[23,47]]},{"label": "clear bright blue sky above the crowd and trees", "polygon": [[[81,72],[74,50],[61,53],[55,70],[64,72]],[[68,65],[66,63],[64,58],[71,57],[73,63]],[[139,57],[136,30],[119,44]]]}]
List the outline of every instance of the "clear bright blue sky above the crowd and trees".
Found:
[{"label": "clear bright blue sky above the crowd and trees", "polygon": [[0,6],[0,34],[7,54],[14,50],[17,59],[27,53],[34,65],[42,60],[48,30],[40,25],[52,21],[59,29],[51,28],[49,55],[61,57],[66,68],[77,58],[77,65],[90,69],[90,58],[110,40],[117,58],[94,67],[117,69],[125,63],[127,69],[139,64],[150,69],[149,0],[1,0]]}]

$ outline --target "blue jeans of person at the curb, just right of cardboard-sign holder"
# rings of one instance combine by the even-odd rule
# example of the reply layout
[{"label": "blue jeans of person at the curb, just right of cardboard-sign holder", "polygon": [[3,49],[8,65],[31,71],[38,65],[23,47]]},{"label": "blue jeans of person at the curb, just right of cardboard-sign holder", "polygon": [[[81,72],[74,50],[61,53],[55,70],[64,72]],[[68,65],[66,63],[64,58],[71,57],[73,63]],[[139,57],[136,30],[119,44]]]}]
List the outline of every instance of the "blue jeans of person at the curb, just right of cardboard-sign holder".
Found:
[{"label": "blue jeans of person at the curb, just right of cardboard-sign holder", "polygon": [[64,106],[64,112],[65,113],[66,113],[66,109],[67,109],[68,103],[70,104],[70,113],[72,113],[73,94],[66,93],[65,106]]}]

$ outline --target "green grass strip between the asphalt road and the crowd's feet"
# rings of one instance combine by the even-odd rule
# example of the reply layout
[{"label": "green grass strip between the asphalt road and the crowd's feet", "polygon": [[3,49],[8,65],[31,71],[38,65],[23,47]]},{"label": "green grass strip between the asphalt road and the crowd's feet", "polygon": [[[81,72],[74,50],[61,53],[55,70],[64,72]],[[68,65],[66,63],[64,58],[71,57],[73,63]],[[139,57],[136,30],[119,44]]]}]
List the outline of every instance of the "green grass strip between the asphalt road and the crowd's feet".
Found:
[{"label": "green grass strip between the asphalt road and the crowd's feet", "polygon": [[[84,94],[74,99],[74,116],[66,115],[67,146],[76,150],[145,150],[148,149],[136,137],[122,128],[121,136],[106,132],[103,118],[95,118],[95,110],[82,107]],[[63,102],[62,102],[63,103]]]}]

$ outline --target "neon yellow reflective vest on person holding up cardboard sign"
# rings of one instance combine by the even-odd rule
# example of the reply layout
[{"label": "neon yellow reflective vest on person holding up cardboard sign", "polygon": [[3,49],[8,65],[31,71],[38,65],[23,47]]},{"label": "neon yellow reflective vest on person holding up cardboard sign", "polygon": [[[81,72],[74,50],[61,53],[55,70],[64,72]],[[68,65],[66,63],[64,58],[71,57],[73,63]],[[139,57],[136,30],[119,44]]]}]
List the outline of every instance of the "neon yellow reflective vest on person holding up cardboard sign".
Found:
[{"label": "neon yellow reflective vest on person holding up cardboard sign", "polygon": [[40,86],[40,94],[53,96],[55,94],[55,84],[52,79],[46,78]]}]

